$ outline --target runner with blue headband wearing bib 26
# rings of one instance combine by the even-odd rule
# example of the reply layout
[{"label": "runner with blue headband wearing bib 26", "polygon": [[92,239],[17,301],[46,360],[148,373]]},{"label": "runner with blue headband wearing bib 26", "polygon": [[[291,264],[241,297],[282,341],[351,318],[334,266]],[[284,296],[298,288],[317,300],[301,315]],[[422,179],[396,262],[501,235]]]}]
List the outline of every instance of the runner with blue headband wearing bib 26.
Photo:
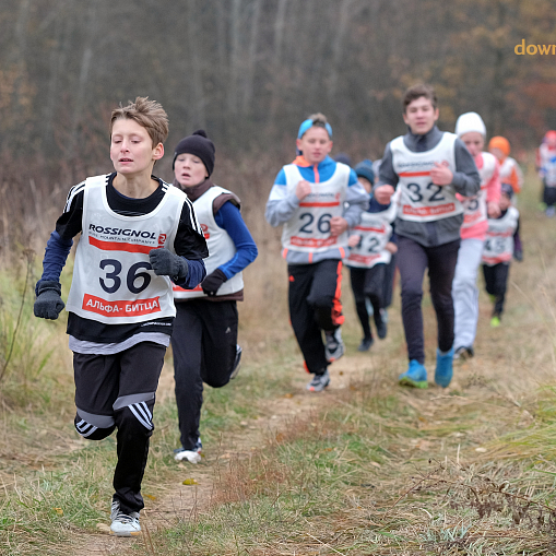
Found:
[{"label": "runner with blue headband wearing bib 26", "polygon": [[332,128],[324,116],[305,120],[296,144],[300,154],[280,170],[264,216],[272,226],[284,225],[289,317],[305,367],[314,375],[307,389],[320,392],[330,383],[328,366],[344,353],[342,259],[347,228],[359,222],[368,196],[355,171],[329,156]]}]

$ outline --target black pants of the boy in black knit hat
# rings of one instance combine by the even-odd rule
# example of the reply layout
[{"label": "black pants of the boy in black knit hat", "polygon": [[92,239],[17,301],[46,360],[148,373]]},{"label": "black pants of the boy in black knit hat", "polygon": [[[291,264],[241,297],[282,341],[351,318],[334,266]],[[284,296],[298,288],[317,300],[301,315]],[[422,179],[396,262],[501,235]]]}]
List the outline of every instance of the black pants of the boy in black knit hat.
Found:
[{"label": "black pants of the boy in black knit hat", "polygon": [[193,450],[199,439],[203,382],[229,382],[237,345],[236,301],[204,298],[176,303],[171,334],[176,403],[181,446]]}]

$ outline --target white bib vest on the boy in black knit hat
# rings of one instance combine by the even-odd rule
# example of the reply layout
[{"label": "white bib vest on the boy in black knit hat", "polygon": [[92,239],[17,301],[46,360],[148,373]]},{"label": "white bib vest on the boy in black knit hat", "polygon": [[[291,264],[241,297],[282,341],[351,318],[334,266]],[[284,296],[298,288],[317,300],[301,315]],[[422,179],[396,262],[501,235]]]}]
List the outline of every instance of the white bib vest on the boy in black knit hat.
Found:
[{"label": "white bib vest on the boy in black knit hat", "polygon": [[[201,225],[209,248],[209,257],[204,259],[206,274],[215,271],[222,264],[233,259],[237,252],[234,241],[225,229],[222,229],[214,220],[212,210],[213,201],[222,193],[229,193],[227,189],[213,186],[208,189],[201,197],[193,201],[197,220]],[[238,272],[229,280],[224,282],[217,292],[217,296],[235,294],[244,288],[242,273]],[[201,284],[194,289],[184,289],[174,284],[174,297],[176,299],[190,299],[192,297],[206,297]]]}]

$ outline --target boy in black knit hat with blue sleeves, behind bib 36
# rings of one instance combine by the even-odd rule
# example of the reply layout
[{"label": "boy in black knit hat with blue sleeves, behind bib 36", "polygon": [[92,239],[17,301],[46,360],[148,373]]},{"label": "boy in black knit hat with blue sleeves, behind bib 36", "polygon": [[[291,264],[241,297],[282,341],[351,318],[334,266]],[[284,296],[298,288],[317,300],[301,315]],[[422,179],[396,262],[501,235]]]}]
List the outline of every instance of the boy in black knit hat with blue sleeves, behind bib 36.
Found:
[{"label": "boy in black knit hat with blue sleeves, behind bib 36", "polygon": [[241,271],[258,255],[235,193],[214,185],[215,149],[203,130],[184,138],[174,152],[174,185],[186,192],[209,247],[208,275],[194,288],[174,286],[176,320],[171,334],[176,403],[181,446],[175,460],[201,461],[203,382],[221,388],[235,378],[237,301],[244,300]]}]

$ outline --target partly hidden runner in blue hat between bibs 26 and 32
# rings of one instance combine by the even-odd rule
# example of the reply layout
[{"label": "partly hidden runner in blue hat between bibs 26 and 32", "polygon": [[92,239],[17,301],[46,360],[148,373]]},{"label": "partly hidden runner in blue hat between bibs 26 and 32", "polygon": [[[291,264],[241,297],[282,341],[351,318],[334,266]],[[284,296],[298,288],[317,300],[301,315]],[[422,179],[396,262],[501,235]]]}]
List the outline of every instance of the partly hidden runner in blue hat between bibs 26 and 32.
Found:
[{"label": "partly hidden runner in blue hat between bibs 26 and 32", "polygon": [[350,255],[345,259],[345,264],[350,267],[355,308],[363,329],[358,351],[367,352],[375,342],[367,303],[372,308],[372,320],[377,327],[378,338],[385,339],[387,335],[388,320],[385,314],[389,293],[387,281],[390,277],[387,271],[392,255],[398,251],[392,228],[398,205],[395,200],[390,204],[380,204],[372,197],[375,173],[370,161],[363,161],[354,169],[369,193],[369,208],[363,212],[360,223],[350,229],[347,241]]}]

